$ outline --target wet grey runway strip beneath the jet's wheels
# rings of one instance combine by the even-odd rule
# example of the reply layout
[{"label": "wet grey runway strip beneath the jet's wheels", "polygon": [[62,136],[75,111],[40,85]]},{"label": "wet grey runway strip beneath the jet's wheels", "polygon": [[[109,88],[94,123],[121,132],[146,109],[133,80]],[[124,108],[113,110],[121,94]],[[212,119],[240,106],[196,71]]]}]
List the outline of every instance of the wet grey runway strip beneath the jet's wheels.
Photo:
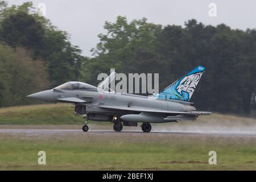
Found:
[{"label": "wet grey runway strip beneath the jet's wheels", "polygon": [[81,134],[81,135],[176,135],[176,136],[216,136],[216,137],[256,137],[256,133],[191,133],[191,132],[162,132],[151,131],[150,133],[143,133],[139,130],[123,130],[121,132],[115,132],[113,130],[89,130],[83,132],[80,129],[0,129],[0,134],[26,134],[26,135],[69,135],[69,134]]}]

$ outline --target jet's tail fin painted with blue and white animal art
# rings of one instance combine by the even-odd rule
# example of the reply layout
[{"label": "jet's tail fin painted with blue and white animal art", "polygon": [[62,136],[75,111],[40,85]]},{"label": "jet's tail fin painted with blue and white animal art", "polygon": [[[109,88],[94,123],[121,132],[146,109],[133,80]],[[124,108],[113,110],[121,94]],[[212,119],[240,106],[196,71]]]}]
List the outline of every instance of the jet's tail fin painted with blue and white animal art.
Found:
[{"label": "jet's tail fin painted with blue and white animal art", "polygon": [[173,82],[163,92],[156,94],[160,99],[172,99],[189,101],[196,89],[196,86],[204,73],[204,67],[198,66],[191,72]]}]

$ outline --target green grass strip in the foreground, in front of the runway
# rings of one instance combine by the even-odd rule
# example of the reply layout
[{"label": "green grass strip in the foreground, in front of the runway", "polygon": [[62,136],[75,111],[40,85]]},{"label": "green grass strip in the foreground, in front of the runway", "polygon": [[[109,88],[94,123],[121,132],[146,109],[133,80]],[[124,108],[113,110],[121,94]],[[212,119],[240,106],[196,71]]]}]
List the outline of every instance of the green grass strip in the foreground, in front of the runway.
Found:
[{"label": "green grass strip in the foreground, in front of the runway", "polygon": [[[103,139],[104,138],[104,139]],[[112,138],[87,135],[0,138],[1,170],[256,170],[255,142],[191,137]],[[102,141],[104,140],[104,141]],[[46,165],[38,151],[46,151]],[[208,152],[217,152],[217,165],[208,164]]]}]

